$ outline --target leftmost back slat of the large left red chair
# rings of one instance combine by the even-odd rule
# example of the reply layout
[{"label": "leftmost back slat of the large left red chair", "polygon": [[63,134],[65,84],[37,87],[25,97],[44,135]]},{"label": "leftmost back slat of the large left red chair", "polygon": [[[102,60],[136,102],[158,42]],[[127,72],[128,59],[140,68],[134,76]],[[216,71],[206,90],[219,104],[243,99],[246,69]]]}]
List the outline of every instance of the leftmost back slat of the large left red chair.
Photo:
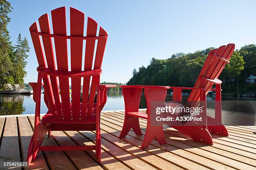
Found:
[{"label": "leftmost back slat of the large left red chair", "polygon": [[[36,22],[33,23],[31,25],[31,27],[29,28],[29,30],[38,32],[37,23]],[[35,49],[35,52],[36,52],[38,65],[40,67],[46,67],[44,52],[43,52],[43,49],[42,49],[41,39],[40,39],[39,35],[31,34],[31,38],[32,38],[33,46],[34,46],[34,49]],[[47,91],[47,94],[49,94],[49,96],[52,96],[52,89],[51,89],[51,86],[50,86],[50,83],[49,83],[50,82],[49,76],[48,75],[43,75],[42,78],[43,78],[43,81],[44,81],[44,84],[45,84],[45,90]],[[50,108],[52,110],[52,114],[56,115],[56,109],[55,109],[53,97],[49,97],[49,105],[50,105]]]}]

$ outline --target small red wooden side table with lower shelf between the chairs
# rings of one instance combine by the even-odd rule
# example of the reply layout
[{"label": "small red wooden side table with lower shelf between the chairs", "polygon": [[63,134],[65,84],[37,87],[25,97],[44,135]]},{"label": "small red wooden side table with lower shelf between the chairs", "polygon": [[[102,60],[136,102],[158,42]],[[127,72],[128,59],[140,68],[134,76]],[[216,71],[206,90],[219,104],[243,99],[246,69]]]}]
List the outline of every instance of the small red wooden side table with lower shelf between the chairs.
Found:
[{"label": "small red wooden side table with lower shelf between the chairs", "polygon": [[[170,87],[150,85],[122,85],[120,87],[122,87],[125,102],[125,119],[119,138],[125,138],[131,129],[133,129],[136,135],[142,135],[138,118],[143,118],[147,120],[147,128],[141,149],[148,148],[155,137],[160,145],[166,144],[163,124],[161,122],[156,122],[154,120],[156,115],[153,114],[156,114],[156,107],[164,106],[167,89]],[[143,89],[147,104],[146,114],[139,112],[139,104]]]}]

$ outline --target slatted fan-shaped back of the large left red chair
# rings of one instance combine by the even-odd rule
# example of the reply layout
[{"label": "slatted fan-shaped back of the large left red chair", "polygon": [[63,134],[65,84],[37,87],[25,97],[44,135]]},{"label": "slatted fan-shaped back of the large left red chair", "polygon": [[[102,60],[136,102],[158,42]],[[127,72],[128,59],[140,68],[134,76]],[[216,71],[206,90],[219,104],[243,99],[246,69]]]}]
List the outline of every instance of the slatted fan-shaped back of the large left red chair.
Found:
[{"label": "slatted fan-shaped back of the large left red chair", "polygon": [[[38,19],[41,32],[39,32],[37,22],[33,23],[29,28],[40,69],[44,68],[45,70],[53,70],[63,74],[66,73],[67,75],[75,72],[92,70],[96,40],[97,49],[93,69],[101,68],[105,45],[108,38],[108,34],[103,28],[100,27],[99,35],[96,36],[97,23],[92,18],[88,17],[85,37],[84,13],[72,7],[70,7],[70,36],[67,35],[65,7],[52,10],[51,20],[53,34],[51,34],[48,13],[42,15]],[[41,39],[43,41],[44,50],[41,45]],[[54,40],[54,43],[52,39]],[[67,39],[70,39],[70,64],[68,61]],[[85,57],[84,68],[82,70],[84,40],[86,40],[84,52]],[[56,55],[56,62],[54,53]],[[71,66],[70,68],[69,65]],[[91,77],[83,78],[82,103],[80,102],[80,92],[83,76],[70,78],[72,102],[69,97],[70,79],[68,76],[60,77],[45,74],[42,76],[45,92],[49,100],[49,107],[54,117],[64,120],[79,120],[92,116],[96,111],[93,110],[93,105],[96,88],[97,85],[100,84],[99,76],[92,76],[92,81]]]}]

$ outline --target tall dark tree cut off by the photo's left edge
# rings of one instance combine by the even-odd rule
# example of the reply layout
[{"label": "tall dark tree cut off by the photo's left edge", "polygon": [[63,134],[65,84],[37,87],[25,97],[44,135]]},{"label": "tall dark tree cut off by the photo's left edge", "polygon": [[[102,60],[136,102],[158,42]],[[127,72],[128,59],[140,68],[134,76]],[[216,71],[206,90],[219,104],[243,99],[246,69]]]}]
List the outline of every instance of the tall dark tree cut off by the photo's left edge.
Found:
[{"label": "tall dark tree cut off by the photo's left edge", "polygon": [[7,30],[7,25],[10,23],[8,13],[11,9],[10,2],[0,0],[0,88],[12,79],[10,75],[12,63],[9,57],[11,42]]}]

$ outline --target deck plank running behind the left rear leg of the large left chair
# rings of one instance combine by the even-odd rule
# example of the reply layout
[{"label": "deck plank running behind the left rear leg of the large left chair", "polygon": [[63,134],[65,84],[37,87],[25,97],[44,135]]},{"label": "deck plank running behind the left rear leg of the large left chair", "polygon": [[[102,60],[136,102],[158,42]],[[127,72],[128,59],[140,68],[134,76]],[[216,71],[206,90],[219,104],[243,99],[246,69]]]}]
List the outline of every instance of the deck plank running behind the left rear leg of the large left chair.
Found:
[{"label": "deck plank running behind the left rear leg of the large left chair", "polygon": [[[33,130],[26,116],[18,117],[18,127],[19,127],[19,133],[20,133],[20,147],[22,152],[22,158],[23,158],[23,161],[26,161],[27,154],[28,154],[28,146],[29,146],[31,137],[33,135]],[[26,166],[25,169],[48,170],[48,166],[46,164],[46,161],[44,160],[43,154],[39,152],[38,158],[35,161],[33,161],[29,166]]]}]

